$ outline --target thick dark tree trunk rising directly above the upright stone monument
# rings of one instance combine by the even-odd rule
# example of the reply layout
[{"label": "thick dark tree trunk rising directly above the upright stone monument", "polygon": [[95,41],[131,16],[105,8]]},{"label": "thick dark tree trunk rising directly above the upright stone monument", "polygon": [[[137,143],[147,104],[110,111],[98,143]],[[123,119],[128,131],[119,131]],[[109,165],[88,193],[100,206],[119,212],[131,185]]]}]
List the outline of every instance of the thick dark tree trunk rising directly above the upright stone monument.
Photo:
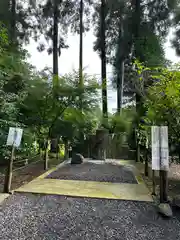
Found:
[{"label": "thick dark tree trunk rising directly above the upright stone monument", "polygon": [[105,24],[105,0],[101,0],[101,78],[102,78],[102,109],[106,123],[108,118],[107,106],[107,80],[106,80],[106,24]]}]

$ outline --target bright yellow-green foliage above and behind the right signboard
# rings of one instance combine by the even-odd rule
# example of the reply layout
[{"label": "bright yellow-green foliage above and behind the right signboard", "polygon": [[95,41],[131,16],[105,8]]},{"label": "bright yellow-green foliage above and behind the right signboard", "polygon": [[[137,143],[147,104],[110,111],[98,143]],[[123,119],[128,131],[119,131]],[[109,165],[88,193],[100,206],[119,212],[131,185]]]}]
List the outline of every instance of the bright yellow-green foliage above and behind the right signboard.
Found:
[{"label": "bright yellow-green foliage above and behind the right signboard", "polygon": [[[143,65],[141,74],[143,73]],[[165,125],[169,129],[170,144],[178,146],[180,144],[180,73],[179,66],[171,69],[155,68],[149,72],[153,79],[152,84],[147,88],[144,96],[142,114],[139,125],[139,135],[141,138],[149,135],[152,125]],[[178,146],[179,149],[179,146]]]}]

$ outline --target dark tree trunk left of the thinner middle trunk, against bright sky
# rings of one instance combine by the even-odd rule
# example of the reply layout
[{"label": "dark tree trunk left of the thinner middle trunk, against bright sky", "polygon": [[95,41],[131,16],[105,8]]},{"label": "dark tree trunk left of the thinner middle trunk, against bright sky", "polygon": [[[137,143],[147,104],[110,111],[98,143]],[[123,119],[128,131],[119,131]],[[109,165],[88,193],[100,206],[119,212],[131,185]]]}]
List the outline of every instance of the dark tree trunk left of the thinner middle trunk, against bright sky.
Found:
[{"label": "dark tree trunk left of the thinner middle trunk, against bright sky", "polygon": [[57,0],[54,0],[53,8],[53,75],[58,77],[58,5]]}]

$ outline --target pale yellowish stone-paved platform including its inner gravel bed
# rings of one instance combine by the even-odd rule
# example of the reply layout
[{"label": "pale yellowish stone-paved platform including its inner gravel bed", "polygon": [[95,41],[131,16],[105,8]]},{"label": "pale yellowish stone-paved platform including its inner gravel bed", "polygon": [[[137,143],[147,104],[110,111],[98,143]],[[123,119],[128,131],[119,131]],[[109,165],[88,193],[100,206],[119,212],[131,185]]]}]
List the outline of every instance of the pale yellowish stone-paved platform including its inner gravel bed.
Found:
[{"label": "pale yellowish stone-paved platform including its inner gravel bed", "polygon": [[76,197],[152,201],[147,187],[138,183],[133,165],[121,162],[65,164],[26,184],[16,192]]}]

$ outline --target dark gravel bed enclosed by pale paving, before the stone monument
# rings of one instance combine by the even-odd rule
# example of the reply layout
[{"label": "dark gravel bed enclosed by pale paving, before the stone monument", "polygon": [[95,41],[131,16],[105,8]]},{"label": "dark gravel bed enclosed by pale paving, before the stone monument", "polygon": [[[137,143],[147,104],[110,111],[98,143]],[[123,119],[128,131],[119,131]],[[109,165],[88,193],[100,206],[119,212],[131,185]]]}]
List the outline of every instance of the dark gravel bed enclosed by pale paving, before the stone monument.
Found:
[{"label": "dark gravel bed enclosed by pale paving, before the stone monument", "polygon": [[109,163],[95,164],[86,162],[79,165],[67,164],[51,173],[47,178],[112,183],[137,183],[131,169]]}]

